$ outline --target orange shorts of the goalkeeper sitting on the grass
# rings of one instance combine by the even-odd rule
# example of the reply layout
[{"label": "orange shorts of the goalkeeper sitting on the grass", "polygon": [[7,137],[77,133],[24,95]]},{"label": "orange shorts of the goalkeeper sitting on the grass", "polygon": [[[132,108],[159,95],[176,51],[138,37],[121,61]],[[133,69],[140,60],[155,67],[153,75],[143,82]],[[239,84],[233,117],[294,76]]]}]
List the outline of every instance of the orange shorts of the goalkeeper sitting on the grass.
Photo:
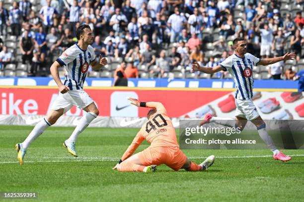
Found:
[{"label": "orange shorts of the goalkeeper sitting on the grass", "polygon": [[139,152],[138,156],[144,166],[166,164],[175,171],[187,160],[187,156],[178,147],[149,147]]}]

